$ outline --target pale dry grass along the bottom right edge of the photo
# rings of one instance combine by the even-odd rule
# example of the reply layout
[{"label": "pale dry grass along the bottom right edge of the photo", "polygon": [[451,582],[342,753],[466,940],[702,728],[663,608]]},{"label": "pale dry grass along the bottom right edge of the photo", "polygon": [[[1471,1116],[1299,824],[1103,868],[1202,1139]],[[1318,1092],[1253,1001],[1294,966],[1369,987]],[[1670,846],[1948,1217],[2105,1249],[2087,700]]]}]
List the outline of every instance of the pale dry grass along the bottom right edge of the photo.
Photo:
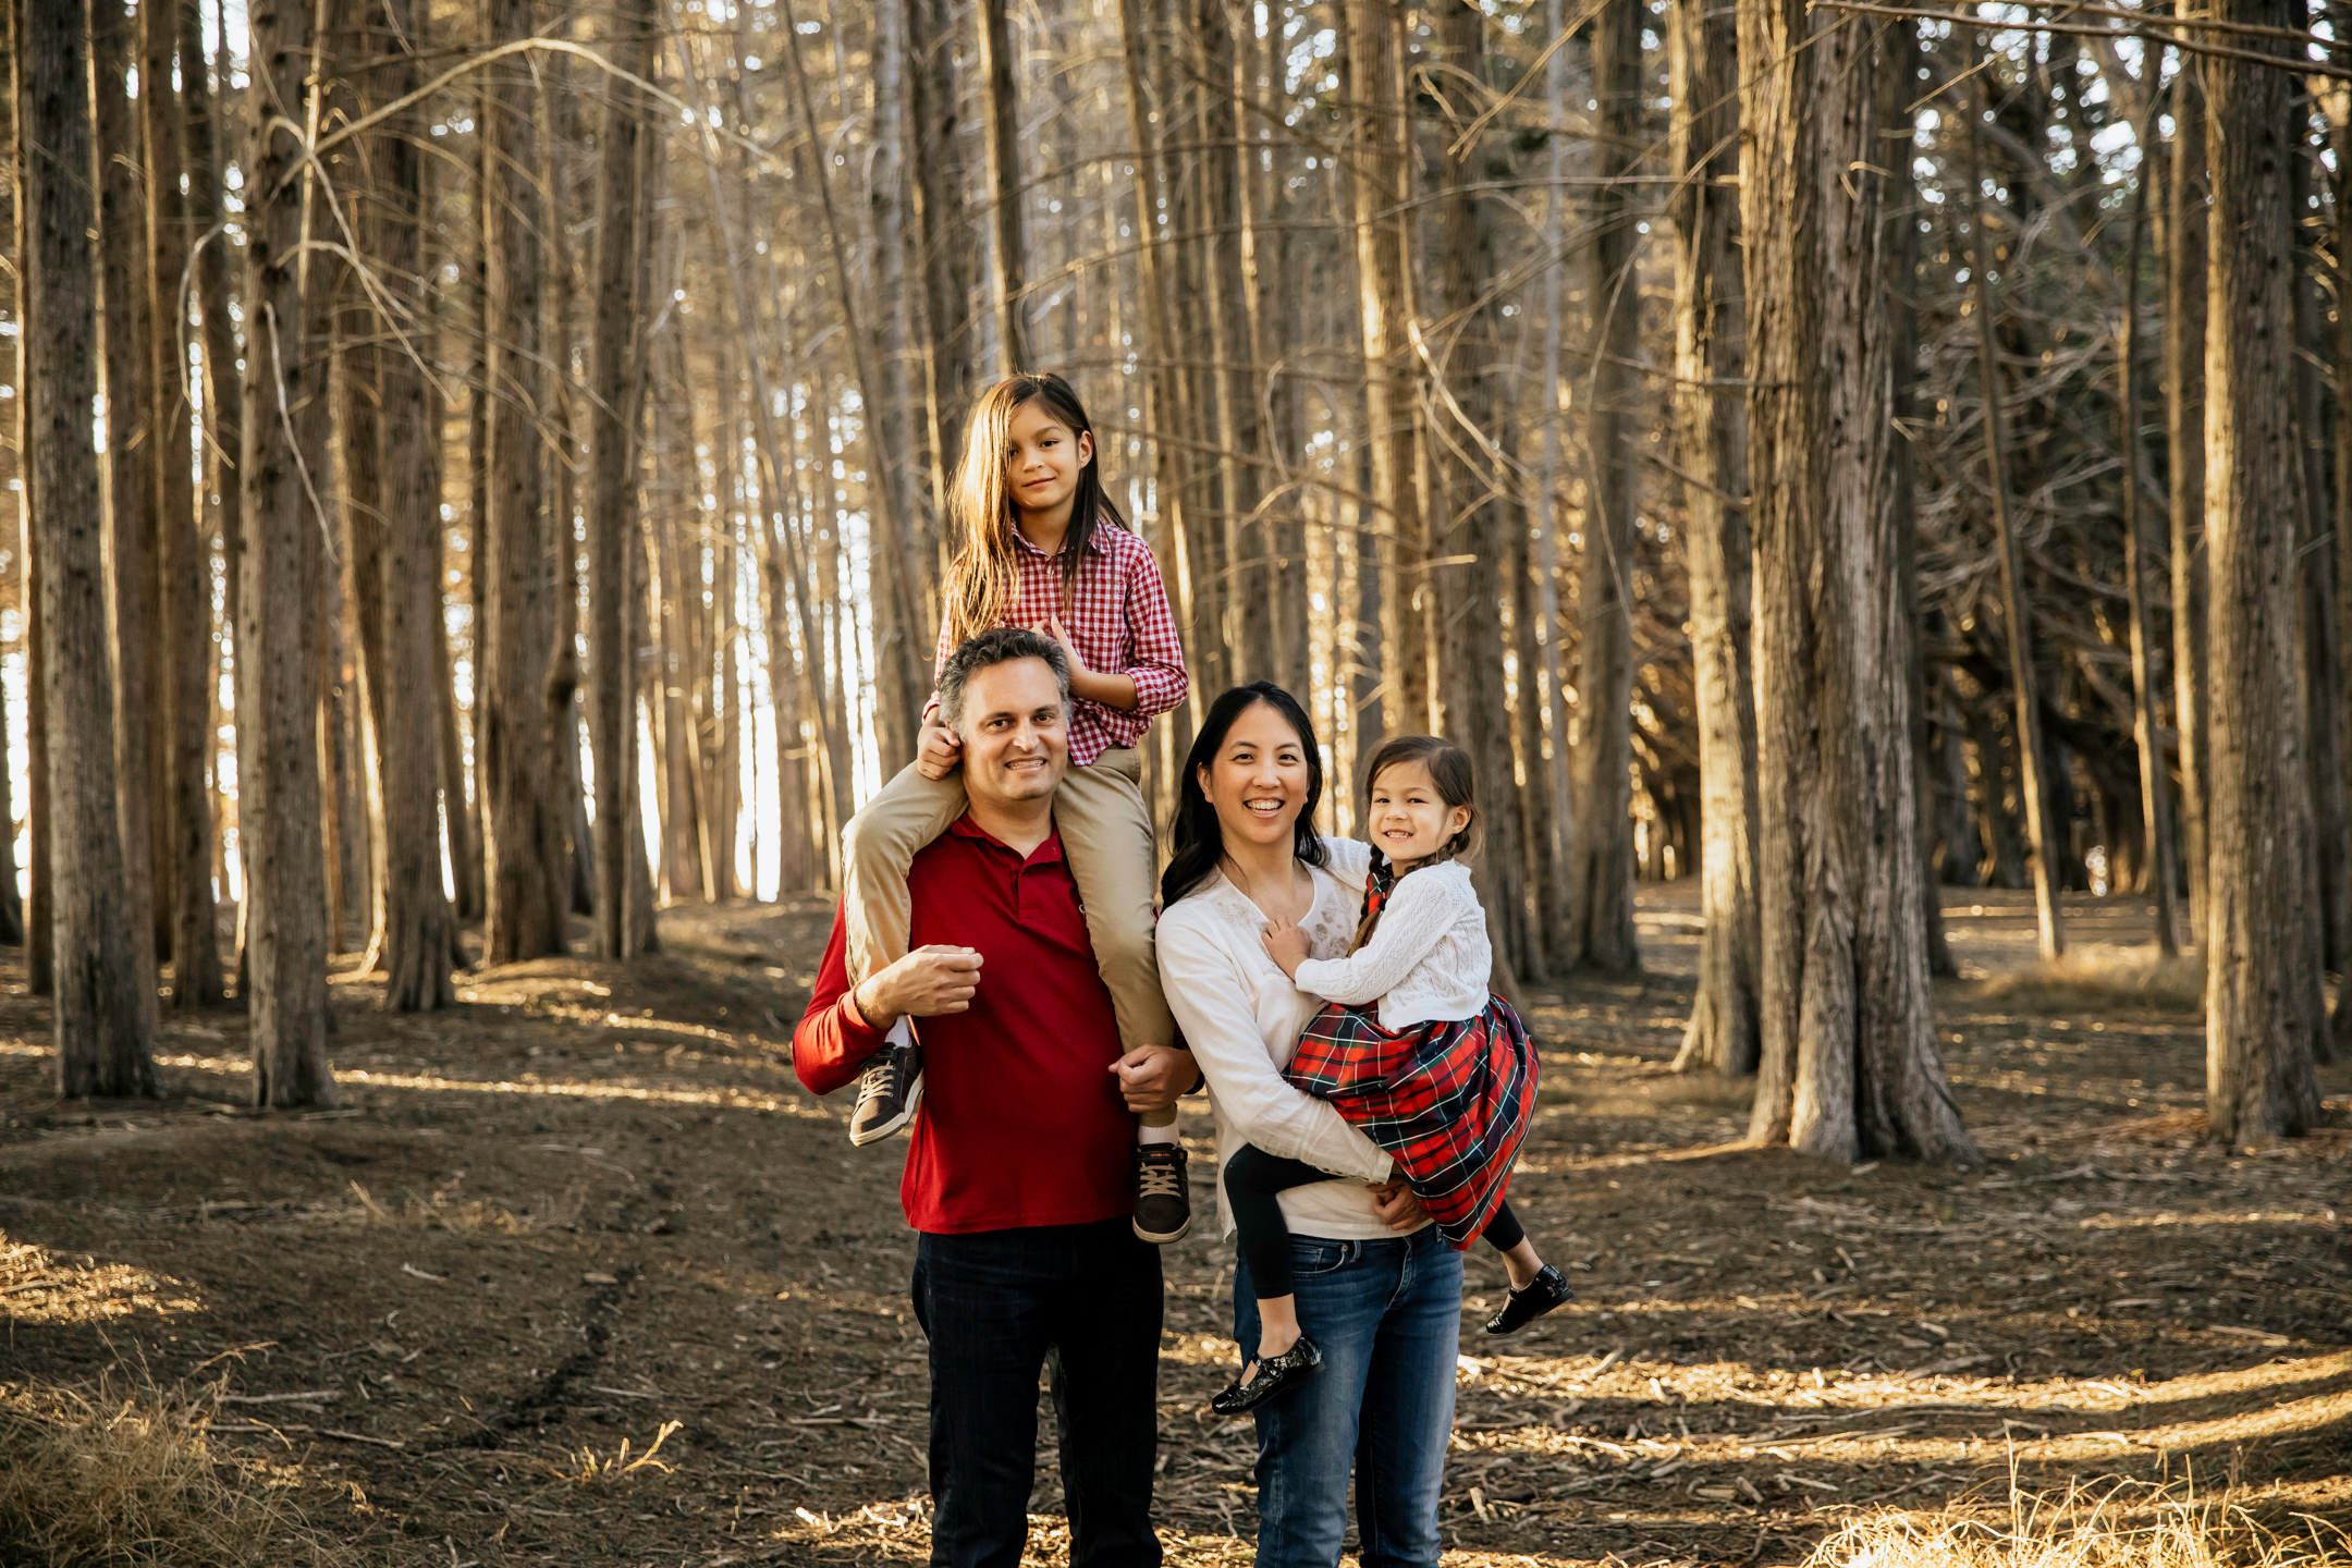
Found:
[{"label": "pale dry grass along the bottom right edge of the photo", "polygon": [[2340,1530],[2312,1519],[2284,1535],[2192,1486],[2119,1481],[2091,1493],[2011,1493],[2009,1519],[1966,1505],[1865,1514],[1820,1542],[1806,1568],[2303,1568],[2345,1563]]}]

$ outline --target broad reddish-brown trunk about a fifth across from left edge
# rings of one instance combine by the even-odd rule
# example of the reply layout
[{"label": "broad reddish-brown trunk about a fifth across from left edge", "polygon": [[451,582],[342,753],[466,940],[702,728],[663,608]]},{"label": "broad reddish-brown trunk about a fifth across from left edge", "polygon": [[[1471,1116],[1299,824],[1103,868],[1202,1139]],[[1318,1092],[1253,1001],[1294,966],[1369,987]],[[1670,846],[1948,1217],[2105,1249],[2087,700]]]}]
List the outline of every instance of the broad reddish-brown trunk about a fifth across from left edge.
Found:
[{"label": "broad reddish-brown trunk about a fifth across from left edge", "polygon": [[[494,0],[492,35],[529,38],[534,0]],[[555,637],[548,571],[541,411],[541,242],[536,125],[522,66],[501,61],[487,92],[494,139],[489,183],[489,515],[477,569],[487,574],[477,630],[482,708],[477,759],[489,802],[489,914],[485,964],[564,952],[572,872],[555,757],[548,750],[546,684]]]}]

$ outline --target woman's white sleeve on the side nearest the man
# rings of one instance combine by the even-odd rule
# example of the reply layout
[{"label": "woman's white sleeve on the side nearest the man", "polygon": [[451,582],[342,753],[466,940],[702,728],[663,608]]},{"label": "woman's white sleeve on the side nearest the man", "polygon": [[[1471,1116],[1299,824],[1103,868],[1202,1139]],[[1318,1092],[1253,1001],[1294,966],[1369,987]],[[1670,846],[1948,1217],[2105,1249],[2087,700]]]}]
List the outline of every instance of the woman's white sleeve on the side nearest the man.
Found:
[{"label": "woman's white sleeve on the side nearest the man", "polygon": [[1157,947],[1169,1011],[1232,1131],[1282,1159],[1367,1182],[1388,1180],[1395,1166],[1388,1150],[1348,1126],[1329,1100],[1294,1088],[1275,1067],[1232,957],[1181,917],[1160,922]]}]

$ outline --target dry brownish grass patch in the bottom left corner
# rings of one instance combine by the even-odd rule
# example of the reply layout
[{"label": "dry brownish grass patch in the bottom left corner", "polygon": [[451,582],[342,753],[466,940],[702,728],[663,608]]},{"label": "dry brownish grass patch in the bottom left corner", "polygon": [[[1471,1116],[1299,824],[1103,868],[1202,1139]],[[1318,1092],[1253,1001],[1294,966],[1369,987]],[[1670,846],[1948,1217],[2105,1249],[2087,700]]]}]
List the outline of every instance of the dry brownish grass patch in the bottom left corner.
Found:
[{"label": "dry brownish grass patch in the bottom left corner", "polygon": [[49,1568],[346,1568],[294,1481],[212,1450],[209,1403],[153,1382],[96,1399],[0,1385],[0,1561]]}]

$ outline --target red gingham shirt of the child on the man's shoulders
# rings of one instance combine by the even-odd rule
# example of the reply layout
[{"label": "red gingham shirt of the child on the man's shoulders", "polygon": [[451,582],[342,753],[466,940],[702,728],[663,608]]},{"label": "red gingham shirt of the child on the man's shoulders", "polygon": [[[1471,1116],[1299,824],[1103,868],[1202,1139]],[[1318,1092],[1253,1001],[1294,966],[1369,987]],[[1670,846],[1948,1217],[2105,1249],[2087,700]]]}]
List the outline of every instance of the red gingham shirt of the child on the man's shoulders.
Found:
[{"label": "red gingham shirt of the child on the man's shoulders", "polygon": [[[1112,522],[1096,522],[1087,559],[1070,585],[1070,609],[1061,607],[1061,555],[1047,555],[1028,538],[1021,545],[1021,588],[1002,625],[1044,625],[1061,616],[1077,644],[1077,656],[1096,675],[1124,675],[1136,682],[1134,710],[1105,708],[1075,698],[1070,703],[1070,766],[1087,766],[1115,745],[1134,745],[1152,719],[1185,698],[1192,677],[1183,668],[1183,644],[1176,642],[1176,616],[1169,611],[1160,562],[1150,545]],[[934,677],[955,651],[955,625],[938,625],[938,661]]]}]

